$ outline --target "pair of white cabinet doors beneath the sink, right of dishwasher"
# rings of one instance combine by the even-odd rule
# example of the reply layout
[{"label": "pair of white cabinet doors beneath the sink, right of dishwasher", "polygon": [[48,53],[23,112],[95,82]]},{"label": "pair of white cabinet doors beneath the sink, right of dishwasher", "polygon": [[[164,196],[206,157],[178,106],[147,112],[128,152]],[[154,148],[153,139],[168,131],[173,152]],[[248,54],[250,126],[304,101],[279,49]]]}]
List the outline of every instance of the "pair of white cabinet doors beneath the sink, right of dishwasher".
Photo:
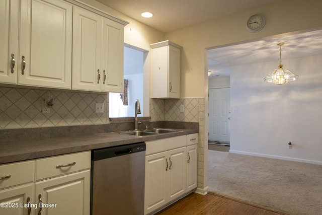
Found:
[{"label": "pair of white cabinet doors beneath the sink, right of dishwasher", "polygon": [[145,157],[145,214],[186,192],[186,147]]}]

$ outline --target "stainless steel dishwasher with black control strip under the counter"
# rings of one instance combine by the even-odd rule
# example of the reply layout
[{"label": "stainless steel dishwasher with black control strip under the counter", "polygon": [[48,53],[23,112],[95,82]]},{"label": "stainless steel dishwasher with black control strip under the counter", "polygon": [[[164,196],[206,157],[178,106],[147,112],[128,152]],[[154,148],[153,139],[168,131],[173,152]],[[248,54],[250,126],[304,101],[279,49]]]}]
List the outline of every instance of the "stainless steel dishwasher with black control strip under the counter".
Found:
[{"label": "stainless steel dishwasher with black control strip under the counter", "polygon": [[92,151],[92,215],[144,214],[145,142]]}]

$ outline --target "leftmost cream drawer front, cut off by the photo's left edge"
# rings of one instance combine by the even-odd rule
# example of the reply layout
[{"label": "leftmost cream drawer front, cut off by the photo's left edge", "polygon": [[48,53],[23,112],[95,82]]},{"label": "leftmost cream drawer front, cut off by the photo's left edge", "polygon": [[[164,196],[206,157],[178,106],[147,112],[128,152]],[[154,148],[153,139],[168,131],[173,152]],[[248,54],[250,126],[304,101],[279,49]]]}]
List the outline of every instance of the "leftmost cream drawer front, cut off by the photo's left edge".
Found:
[{"label": "leftmost cream drawer front, cut off by the photo's left edge", "polygon": [[1,165],[0,189],[33,182],[34,175],[35,161],[24,161]]}]

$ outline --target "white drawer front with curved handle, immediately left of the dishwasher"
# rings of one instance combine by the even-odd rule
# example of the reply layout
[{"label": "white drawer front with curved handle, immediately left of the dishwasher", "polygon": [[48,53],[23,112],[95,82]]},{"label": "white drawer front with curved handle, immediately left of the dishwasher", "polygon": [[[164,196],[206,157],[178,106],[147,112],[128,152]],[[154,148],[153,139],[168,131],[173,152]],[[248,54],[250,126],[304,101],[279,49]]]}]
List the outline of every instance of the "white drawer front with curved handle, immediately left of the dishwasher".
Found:
[{"label": "white drawer front with curved handle, immediately left of the dishwasher", "polygon": [[36,160],[36,181],[91,168],[91,151]]}]

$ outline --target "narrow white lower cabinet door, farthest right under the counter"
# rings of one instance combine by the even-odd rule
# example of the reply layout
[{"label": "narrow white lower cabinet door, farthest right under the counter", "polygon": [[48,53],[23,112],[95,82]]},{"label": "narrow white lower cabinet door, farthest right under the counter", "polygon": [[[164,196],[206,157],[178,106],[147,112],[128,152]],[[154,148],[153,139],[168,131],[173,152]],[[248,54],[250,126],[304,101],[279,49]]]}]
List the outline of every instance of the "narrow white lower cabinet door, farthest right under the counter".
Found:
[{"label": "narrow white lower cabinet door, farthest right under the counter", "polygon": [[187,191],[197,187],[198,145],[187,147]]}]

